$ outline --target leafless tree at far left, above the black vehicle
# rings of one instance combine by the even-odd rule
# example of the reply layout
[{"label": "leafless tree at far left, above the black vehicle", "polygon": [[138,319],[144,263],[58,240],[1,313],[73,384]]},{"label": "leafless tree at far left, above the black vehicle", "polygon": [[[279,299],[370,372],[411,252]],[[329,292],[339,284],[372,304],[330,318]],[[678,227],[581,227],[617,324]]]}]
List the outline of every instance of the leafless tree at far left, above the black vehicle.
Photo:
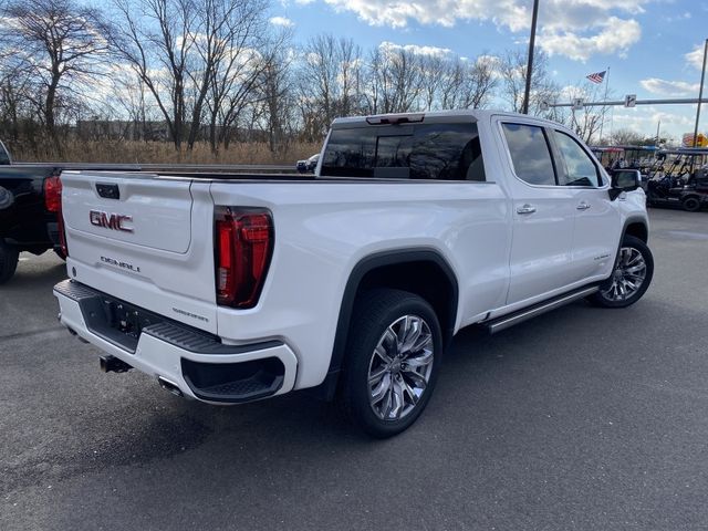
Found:
[{"label": "leafless tree at far left, above the black vehicle", "polygon": [[13,0],[1,14],[0,44],[12,51],[14,72],[34,85],[28,97],[61,150],[58,113],[75,110],[86,98],[82,85],[105,73],[111,27],[96,9],[73,0]]}]

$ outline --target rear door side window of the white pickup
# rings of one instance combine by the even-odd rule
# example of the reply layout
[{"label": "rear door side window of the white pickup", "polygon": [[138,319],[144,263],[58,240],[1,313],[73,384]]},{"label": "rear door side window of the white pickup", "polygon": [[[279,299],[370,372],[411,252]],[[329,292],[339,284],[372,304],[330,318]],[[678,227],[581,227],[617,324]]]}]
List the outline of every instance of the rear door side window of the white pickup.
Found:
[{"label": "rear door side window of the white pickup", "polygon": [[555,186],[551,150],[542,127],[502,124],[517,177],[530,185]]}]

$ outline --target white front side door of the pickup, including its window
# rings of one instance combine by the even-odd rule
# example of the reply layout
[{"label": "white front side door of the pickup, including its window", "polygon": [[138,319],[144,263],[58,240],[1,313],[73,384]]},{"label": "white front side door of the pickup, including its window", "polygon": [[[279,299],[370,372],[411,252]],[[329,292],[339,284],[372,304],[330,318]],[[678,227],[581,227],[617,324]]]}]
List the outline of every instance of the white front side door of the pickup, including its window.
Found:
[{"label": "white front side door of the pickup, including its window", "polygon": [[572,280],[606,277],[622,229],[620,211],[607,192],[610,184],[597,162],[576,138],[554,129],[552,139],[559,184],[572,194],[575,208]]}]

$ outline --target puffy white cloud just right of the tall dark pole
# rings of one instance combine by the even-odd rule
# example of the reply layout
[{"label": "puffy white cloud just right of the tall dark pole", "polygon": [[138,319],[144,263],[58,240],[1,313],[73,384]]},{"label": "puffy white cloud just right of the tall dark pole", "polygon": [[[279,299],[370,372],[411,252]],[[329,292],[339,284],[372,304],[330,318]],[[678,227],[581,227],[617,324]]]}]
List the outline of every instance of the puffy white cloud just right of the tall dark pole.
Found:
[{"label": "puffy white cloud just right of the tall dark pole", "polygon": [[600,31],[591,35],[573,31],[543,32],[539,45],[550,55],[565,55],[576,61],[587,61],[597,53],[624,55],[642,37],[642,29],[635,20],[611,17],[595,28]]}]

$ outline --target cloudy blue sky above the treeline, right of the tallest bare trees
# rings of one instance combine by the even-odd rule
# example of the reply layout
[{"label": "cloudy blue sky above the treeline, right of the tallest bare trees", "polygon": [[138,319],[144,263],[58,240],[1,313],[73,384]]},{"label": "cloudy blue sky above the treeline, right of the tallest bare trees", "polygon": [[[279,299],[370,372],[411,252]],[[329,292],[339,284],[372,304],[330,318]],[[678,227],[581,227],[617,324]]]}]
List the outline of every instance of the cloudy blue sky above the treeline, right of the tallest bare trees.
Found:
[{"label": "cloudy blue sky above the treeline, right of the tallest bare trees", "polygon": [[[275,0],[271,23],[295,43],[320,33],[464,58],[528,45],[532,0]],[[607,70],[613,100],[698,97],[708,0],[540,0],[537,48],[560,86]],[[708,80],[707,80],[708,84]],[[708,97],[708,87],[704,91]],[[708,105],[699,131],[708,133]],[[696,105],[614,107],[613,128],[680,139],[693,133]]]}]

